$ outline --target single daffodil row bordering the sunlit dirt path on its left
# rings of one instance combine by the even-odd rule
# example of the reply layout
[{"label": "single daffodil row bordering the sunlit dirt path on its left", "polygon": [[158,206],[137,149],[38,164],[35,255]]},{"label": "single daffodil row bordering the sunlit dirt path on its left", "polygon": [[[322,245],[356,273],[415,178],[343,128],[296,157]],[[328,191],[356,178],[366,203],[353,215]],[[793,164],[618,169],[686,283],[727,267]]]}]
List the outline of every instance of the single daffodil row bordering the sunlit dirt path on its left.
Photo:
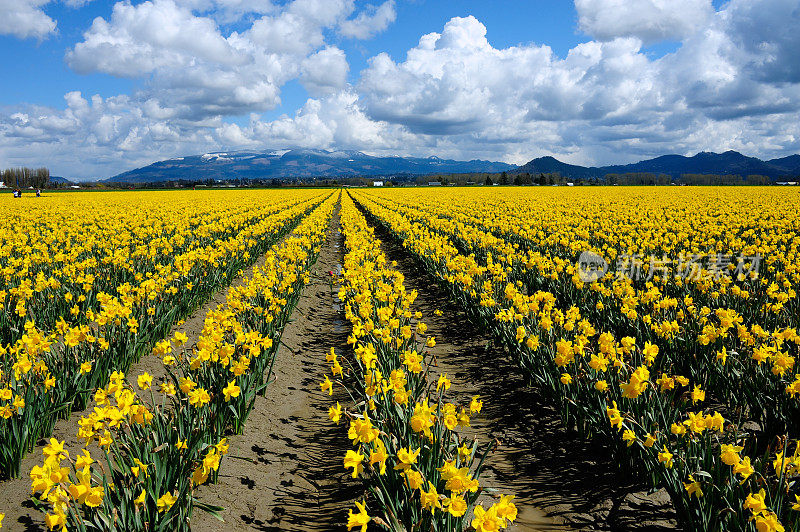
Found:
[{"label": "single daffodil row bordering the sunlit dirt path on its left", "polygon": [[50,529],[186,530],[193,509],[218,509],[193,498],[214,481],[263,393],[280,335],[309,280],[337,202],[330,194],[275,244],[224,304],[208,312],[191,346],[177,332],[153,354],[165,375],[131,384],[115,371],[94,393],[93,412],[77,428],[81,449],[51,439],[30,473]]}]

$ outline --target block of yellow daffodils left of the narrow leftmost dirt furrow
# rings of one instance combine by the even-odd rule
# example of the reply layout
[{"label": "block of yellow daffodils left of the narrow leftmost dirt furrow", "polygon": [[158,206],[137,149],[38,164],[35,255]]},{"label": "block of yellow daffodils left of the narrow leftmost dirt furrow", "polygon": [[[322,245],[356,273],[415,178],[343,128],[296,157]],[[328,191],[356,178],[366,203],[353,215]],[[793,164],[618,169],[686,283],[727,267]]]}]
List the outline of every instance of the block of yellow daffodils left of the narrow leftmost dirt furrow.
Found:
[{"label": "block of yellow daffodils left of the narrow leftmost dirt furrow", "polygon": [[[0,479],[19,476],[22,458],[58,417],[83,409],[113,372],[148,352],[324,197],[261,192],[258,204],[228,194],[211,196],[228,200],[218,208],[207,196],[170,193],[176,201],[161,210],[147,193],[65,194],[29,207],[43,221],[29,211],[9,214],[0,246],[12,250],[0,256],[0,329],[12,340],[0,344]],[[121,201],[130,203],[120,213]],[[42,240],[30,243],[31,234]]]}]

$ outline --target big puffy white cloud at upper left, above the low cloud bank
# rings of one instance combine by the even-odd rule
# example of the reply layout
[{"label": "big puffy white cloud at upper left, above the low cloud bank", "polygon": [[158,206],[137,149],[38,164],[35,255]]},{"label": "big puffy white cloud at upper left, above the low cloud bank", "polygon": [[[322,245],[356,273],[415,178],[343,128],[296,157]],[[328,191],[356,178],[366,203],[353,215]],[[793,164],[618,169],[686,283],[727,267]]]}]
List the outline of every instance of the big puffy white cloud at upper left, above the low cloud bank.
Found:
[{"label": "big puffy white cloud at upper left, above the low cloud bank", "polygon": [[117,3],[110,20],[95,19],[67,62],[79,73],[144,79],[139,99],[202,119],[274,107],[303,57],[270,51],[248,34],[225,36],[212,18],[153,0]]}]

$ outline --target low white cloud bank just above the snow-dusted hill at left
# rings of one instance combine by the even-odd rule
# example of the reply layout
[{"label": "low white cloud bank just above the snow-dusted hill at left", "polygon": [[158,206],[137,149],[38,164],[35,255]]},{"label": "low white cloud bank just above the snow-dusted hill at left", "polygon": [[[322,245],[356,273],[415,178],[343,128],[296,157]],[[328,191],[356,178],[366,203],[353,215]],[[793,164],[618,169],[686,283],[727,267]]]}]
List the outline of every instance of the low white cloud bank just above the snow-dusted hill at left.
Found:
[{"label": "low white cloud bank just above the snow-dusted hill at left", "polygon": [[[78,179],[108,177],[174,156],[215,149],[349,148],[404,152],[412,135],[364,113],[351,90],[309,99],[292,116],[240,126],[222,118],[174,116],[155,101],[65,95],[65,109],[0,113],[0,160],[49,166]],[[58,161],[53,165],[53,161]]]}]

